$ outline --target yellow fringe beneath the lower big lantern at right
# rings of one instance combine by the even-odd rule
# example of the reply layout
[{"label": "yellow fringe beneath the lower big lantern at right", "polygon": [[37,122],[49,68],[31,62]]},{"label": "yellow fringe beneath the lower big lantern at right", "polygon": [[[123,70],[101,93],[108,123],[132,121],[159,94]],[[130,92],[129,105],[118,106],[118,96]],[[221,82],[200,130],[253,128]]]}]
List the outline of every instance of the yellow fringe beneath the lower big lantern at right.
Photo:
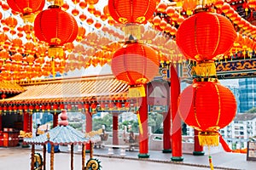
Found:
[{"label": "yellow fringe beneath the lower big lantern at right", "polygon": [[201,146],[218,146],[219,135],[217,132],[200,132],[198,134],[199,144]]}]

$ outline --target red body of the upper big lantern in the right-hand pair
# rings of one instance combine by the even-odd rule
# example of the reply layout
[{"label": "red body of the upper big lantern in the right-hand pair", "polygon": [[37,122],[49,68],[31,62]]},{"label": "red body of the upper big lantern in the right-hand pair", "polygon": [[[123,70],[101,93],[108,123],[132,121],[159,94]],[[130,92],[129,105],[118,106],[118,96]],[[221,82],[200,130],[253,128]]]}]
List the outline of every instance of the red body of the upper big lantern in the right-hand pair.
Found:
[{"label": "red body of the upper big lantern in the right-hand pair", "polygon": [[221,14],[200,12],[177,29],[177,45],[187,59],[209,60],[230,50],[236,39],[234,26]]}]

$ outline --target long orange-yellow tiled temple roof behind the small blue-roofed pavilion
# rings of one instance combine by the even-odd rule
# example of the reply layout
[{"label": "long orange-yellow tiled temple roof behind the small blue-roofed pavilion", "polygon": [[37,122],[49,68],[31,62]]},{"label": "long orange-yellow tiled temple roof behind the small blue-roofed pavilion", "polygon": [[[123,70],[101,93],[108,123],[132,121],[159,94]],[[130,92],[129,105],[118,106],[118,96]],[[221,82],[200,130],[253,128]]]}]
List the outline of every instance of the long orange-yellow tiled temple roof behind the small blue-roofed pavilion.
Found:
[{"label": "long orange-yellow tiled temple roof behind the small blue-roofed pavilion", "polygon": [[0,104],[126,99],[129,88],[112,75],[45,80],[20,86],[26,91],[0,100]]}]

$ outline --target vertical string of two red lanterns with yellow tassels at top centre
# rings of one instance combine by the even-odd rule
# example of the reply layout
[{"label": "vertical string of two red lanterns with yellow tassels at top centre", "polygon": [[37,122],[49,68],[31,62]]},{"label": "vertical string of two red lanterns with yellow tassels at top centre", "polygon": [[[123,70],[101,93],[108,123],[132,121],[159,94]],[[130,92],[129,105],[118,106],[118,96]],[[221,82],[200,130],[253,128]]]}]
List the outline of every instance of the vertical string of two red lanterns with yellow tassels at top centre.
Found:
[{"label": "vertical string of two red lanterns with yellow tassels at top centre", "polygon": [[[109,14],[113,20],[125,25],[125,44],[114,52],[111,70],[117,80],[131,86],[131,98],[144,97],[143,84],[150,82],[159,71],[157,52],[148,45],[138,42],[141,38],[139,25],[145,24],[152,17],[157,3],[156,0],[108,0]],[[140,133],[143,133],[138,108],[135,113]]]}]

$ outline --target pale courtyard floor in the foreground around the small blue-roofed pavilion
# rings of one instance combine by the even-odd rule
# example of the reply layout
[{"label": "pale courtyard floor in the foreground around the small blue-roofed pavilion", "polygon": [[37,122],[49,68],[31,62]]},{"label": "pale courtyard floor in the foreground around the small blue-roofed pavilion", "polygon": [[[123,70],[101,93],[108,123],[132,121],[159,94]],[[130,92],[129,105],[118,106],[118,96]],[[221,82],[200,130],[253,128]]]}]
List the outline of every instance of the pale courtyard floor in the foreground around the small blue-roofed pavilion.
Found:
[{"label": "pale courtyard floor in the foreground around the small blue-roofed pavilion", "polygon": [[[37,150],[37,152],[40,152]],[[30,167],[30,150],[20,148],[1,148],[0,147],[0,169],[1,170],[29,170]],[[57,153],[54,156],[54,169],[55,170],[70,170],[71,168],[71,155],[69,153]],[[94,158],[101,161],[101,170],[206,170],[206,167],[191,167],[180,164],[162,163],[154,161],[138,161],[131,159],[109,158],[103,156],[94,156]],[[50,156],[46,155],[46,168],[50,169]],[[89,156],[86,155],[86,161]],[[80,154],[73,156],[73,170],[82,169],[82,160]],[[84,170],[84,168],[83,168]],[[215,168],[214,170],[218,170]]]}]

